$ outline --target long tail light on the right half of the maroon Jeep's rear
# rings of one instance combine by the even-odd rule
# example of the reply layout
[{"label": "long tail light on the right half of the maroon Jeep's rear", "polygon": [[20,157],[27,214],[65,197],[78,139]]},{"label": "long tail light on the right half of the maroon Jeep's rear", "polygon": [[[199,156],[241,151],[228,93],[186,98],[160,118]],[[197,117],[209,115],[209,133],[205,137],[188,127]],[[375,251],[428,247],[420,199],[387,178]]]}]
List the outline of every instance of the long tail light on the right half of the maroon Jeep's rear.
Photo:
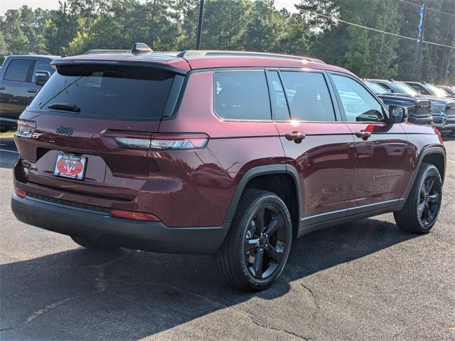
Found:
[{"label": "long tail light on the right half of the maroon Jeep's rear", "polygon": [[151,134],[112,130],[107,130],[104,136],[113,138],[122,147],[156,150],[201,149],[209,139],[206,134]]}]

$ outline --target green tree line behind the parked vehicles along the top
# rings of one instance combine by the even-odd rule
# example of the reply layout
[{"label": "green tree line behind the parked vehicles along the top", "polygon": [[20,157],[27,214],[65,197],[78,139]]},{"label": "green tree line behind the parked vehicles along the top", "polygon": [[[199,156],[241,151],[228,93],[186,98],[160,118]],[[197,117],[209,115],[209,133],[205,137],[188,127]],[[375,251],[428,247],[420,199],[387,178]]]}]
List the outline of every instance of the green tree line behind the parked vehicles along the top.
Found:
[{"label": "green tree line behind the parked vehicles along the top", "polygon": [[[365,78],[415,78],[419,0],[206,0],[201,48],[290,53],[341,65]],[[0,57],[75,55],[92,48],[155,51],[196,46],[198,0],[60,0],[59,9],[10,9],[0,17]],[[455,1],[428,0],[424,40],[455,45]],[[436,11],[435,11],[436,10]],[[447,14],[441,13],[446,12]],[[455,83],[455,49],[424,44],[422,80]]]}]

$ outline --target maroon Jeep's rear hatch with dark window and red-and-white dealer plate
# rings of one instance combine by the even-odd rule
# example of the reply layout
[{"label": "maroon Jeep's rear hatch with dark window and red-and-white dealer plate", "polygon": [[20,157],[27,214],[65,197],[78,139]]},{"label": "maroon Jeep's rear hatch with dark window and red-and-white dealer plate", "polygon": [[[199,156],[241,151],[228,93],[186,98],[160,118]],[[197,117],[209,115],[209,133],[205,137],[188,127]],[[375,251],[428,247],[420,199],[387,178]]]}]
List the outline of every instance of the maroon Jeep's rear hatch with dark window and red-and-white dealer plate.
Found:
[{"label": "maroon Jeep's rear hatch with dark window and red-and-white dealer plate", "polygon": [[[182,73],[167,65],[58,65],[19,121],[16,145],[25,181],[134,201],[149,175],[141,137],[147,141],[158,132],[182,83]],[[139,148],[122,145],[123,137]]]}]

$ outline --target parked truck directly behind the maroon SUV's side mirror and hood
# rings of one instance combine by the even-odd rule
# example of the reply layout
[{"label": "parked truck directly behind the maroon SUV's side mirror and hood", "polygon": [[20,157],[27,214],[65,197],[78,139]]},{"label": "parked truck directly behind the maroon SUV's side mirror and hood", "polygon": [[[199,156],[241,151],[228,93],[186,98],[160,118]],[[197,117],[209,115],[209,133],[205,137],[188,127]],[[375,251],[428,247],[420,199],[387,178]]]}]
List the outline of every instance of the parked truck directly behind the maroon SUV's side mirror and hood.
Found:
[{"label": "parked truck directly behind the maroon SUV's side mirror and hood", "polygon": [[363,83],[370,88],[375,95],[378,96],[384,102],[385,105],[400,105],[407,108],[408,122],[415,123],[417,125],[431,125],[432,114],[431,114],[431,103],[429,100],[424,98],[414,98],[411,95],[390,93],[389,91],[382,88],[381,85],[373,83],[370,80],[363,80]]}]

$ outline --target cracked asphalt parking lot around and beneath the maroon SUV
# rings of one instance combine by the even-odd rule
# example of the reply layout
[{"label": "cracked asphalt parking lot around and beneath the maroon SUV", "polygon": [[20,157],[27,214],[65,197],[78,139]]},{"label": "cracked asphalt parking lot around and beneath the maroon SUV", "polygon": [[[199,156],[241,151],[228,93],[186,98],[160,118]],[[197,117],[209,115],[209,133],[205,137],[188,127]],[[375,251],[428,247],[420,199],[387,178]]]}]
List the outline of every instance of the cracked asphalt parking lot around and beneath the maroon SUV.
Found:
[{"label": "cracked asphalt parking lot around and beneath the maroon SUV", "polygon": [[455,340],[455,139],[439,222],[391,214],[294,242],[269,290],[239,293],[210,256],[87,251],[19,223],[0,139],[0,340]]}]

